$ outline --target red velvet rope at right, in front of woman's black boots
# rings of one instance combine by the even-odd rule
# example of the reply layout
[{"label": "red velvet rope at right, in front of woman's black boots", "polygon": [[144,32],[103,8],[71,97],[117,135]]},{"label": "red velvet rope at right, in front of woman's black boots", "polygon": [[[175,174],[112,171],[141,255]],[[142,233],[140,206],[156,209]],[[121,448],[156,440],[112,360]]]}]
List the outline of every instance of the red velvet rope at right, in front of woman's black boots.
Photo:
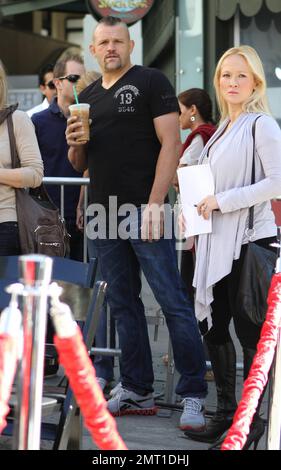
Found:
[{"label": "red velvet rope at right, in front of woman's black boots", "polygon": [[281,273],[272,278],[267,298],[268,310],[261,330],[257,352],[249,376],[244,383],[243,394],[233,418],[233,424],[221,450],[242,450],[263,389],[268,380],[274,359],[281,319]]}]

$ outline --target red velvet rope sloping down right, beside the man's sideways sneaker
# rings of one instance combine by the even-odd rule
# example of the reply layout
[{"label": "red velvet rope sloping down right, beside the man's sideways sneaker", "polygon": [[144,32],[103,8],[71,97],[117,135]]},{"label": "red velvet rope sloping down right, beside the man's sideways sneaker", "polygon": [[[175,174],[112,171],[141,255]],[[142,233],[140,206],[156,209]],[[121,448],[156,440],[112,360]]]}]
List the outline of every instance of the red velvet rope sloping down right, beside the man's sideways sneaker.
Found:
[{"label": "red velvet rope sloping down right, beside the man's sideways sneaker", "polygon": [[83,343],[80,329],[71,338],[54,338],[59,361],[65,369],[85,426],[99,449],[127,450],[118,434],[114,418],[107,410],[95,369]]}]

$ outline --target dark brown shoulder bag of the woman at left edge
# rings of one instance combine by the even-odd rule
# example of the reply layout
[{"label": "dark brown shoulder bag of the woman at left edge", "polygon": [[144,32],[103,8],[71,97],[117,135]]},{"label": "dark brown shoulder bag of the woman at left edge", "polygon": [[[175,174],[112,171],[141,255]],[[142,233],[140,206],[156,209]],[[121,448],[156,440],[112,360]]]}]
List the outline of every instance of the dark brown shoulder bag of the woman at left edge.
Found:
[{"label": "dark brown shoulder bag of the woman at left edge", "polygon": [[[20,168],[16,148],[12,112],[7,116],[12,168]],[[69,235],[59,209],[50,199],[45,187],[15,188],[16,211],[22,254],[40,253],[47,256],[66,256]]]}]

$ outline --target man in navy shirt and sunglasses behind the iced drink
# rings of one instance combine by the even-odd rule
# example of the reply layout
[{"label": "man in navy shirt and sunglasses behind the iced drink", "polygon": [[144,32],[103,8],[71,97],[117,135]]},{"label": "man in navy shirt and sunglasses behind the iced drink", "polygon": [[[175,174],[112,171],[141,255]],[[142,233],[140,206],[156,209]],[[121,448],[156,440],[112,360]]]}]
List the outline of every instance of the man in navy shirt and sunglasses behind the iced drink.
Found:
[{"label": "man in navy shirt and sunglasses behind the iced drink", "polygon": [[[83,60],[78,55],[68,56],[55,64],[53,83],[57,96],[48,109],[32,116],[44,162],[44,175],[56,177],[80,177],[67,158],[65,139],[69,105],[74,103],[73,85],[85,73]],[[60,207],[60,188],[48,186],[48,193]],[[83,235],[76,226],[76,210],[80,195],[79,186],[65,186],[64,217],[70,238],[70,258],[83,260]]]}]

